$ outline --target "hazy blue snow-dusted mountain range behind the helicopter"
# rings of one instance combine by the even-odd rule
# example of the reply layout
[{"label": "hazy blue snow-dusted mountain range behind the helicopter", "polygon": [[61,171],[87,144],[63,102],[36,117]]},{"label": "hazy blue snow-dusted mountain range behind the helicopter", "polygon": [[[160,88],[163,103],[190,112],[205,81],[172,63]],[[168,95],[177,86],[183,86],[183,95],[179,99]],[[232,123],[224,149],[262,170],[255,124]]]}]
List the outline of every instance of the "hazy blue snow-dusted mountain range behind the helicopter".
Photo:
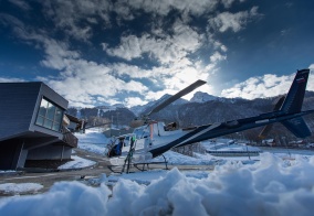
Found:
[{"label": "hazy blue snow-dusted mountain range behind the helicopter", "polygon": [[[170,95],[165,95],[156,101],[150,101],[144,106],[136,106],[128,108],[117,108],[117,106],[102,106],[97,108],[82,108],[81,117],[90,119],[92,117],[106,118],[116,125],[129,125],[129,122],[142,114],[148,114],[154,107],[169,98]],[[187,101],[185,99],[178,99],[169,106],[165,107],[157,114],[150,116],[154,120],[160,120],[167,122],[176,121],[178,125],[184,127],[201,126],[212,122],[222,122],[228,120],[234,120],[240,118],[247,118],[257,116],[263,112],[271,111],[278,97],[274,98],[258,98],[253,100],[247,100],[243,98],[220,98],[210,96],[206,93],[196,93],[195,97]],[[312,109],[314,101],[314,93],[306,91],[303,108]],[[119,105],[122,106],[122,105]],[[100,110],[101,109],[101,110]],[[67,109],[70,115],[76,116],[77,110],[70,108]],[[311,116],[304,117],[311,129],[314,129],[313,120]],[[252,129],[258,137],[261,129]],[[273,128],[273,133],[285,132],[285,129],[278,125]],[[250,131],[250,133],[252,133]],[[287,137],[291,133],[286,134]]]}]

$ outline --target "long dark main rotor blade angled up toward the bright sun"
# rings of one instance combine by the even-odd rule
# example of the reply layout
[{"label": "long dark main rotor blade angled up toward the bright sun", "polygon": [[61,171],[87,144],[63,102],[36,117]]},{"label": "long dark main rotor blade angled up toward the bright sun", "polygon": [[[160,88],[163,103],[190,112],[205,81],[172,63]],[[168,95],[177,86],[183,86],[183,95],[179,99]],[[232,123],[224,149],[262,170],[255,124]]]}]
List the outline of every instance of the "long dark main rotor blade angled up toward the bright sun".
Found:
[{"label": "long dark main rotor blade angled up toward the bright sun", "polygon": [[150,112],[147,114],[147,116],[158,112],[161,109],[164,109],[165,107],[167,107],[168,105],[170,105],[171,102],[176,101],[177,99],[179,99],[180,97],[189,94],[190,91],[195,90],[196,88],[200,87],[201,85],[206,84],[205,80],[197,80],[193,84],[189,85],[188,87],[186,87],[185,89],[180,90],[179,93],[177,93],[176,95],[169,97],[168,99],[166,99],[164,102],[161,102],[160,105],[158,105],[157,107],[155,107]]}]

